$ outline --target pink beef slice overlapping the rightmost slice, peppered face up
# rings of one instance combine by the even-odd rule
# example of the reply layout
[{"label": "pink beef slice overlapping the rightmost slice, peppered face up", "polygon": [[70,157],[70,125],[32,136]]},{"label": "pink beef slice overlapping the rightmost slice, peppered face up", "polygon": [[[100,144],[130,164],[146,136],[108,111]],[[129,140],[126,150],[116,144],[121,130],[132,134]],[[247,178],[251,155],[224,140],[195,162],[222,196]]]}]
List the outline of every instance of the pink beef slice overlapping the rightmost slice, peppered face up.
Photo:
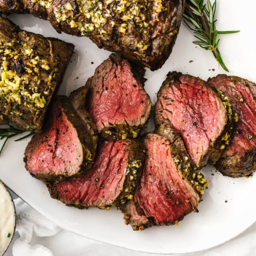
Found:
[{"label": "pink beef slice overlapping the rightmost slice, peppered face up", "polygon": [[198,168],[221,156],[230,141],[233,118],[227,97],[193,76],[169,73],[157,93],[156,127],[175,129]]}]

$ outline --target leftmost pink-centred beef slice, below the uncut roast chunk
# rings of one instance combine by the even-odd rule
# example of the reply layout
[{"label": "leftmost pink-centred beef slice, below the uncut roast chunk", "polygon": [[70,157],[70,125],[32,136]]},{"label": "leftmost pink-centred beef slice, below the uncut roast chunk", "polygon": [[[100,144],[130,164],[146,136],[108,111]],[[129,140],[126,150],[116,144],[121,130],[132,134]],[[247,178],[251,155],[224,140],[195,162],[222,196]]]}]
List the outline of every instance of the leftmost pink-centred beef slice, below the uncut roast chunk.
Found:
[{"label": "leftmost pink-centred beef slice, below the uncut roast chunk", "polygon": [[86,128],[66,96],[58,96],[43,131],[26,147],[26,169],[44,182],[79,175],[92,166],[96,143],[96,131]]}]

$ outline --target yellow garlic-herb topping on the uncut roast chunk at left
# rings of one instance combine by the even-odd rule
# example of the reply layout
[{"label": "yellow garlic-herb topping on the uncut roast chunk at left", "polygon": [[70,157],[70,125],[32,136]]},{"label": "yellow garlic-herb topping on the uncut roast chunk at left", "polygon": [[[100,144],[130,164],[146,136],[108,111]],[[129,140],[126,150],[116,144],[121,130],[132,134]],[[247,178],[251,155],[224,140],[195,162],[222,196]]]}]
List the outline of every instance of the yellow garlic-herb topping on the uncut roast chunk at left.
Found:
[{"label": "yellow garlic-herb topping on the uncut roast chunk at left", "polygon": [[38,54],[31,40],[0,40],[0,100],[11,106],[9,115],[20,118],[24,106],[33,115],[40,116],[58,73],[57,61],[52,55]]}]

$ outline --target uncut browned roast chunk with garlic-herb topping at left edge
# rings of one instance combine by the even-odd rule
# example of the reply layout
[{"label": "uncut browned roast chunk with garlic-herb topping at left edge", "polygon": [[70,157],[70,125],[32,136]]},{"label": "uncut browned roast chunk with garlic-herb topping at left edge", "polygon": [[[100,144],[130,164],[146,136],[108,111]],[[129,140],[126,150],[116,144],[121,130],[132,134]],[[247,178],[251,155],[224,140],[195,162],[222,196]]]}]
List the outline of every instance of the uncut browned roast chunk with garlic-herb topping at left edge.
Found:
[{"label": "uncut browned roast chunk with garlic-herb topping at left edge", "polygon": [[20,30],[0,17],[0,124],[41,130],[73,44]]}]

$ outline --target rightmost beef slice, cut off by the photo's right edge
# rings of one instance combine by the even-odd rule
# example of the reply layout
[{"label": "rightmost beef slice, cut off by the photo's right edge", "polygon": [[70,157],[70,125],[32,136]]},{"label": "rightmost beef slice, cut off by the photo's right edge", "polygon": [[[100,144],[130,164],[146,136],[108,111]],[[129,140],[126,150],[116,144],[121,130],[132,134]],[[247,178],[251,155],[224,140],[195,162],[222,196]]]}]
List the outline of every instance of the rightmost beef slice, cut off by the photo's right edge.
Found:
[{"label": "rightmost beef slice, cut off by the photo's right edge", "polygon": [[230,99],[238,116],[232,140],[215,166],[231,177],[250,175],[256,170],[256,84],[226,75],[210,78],[208,83]]}]

